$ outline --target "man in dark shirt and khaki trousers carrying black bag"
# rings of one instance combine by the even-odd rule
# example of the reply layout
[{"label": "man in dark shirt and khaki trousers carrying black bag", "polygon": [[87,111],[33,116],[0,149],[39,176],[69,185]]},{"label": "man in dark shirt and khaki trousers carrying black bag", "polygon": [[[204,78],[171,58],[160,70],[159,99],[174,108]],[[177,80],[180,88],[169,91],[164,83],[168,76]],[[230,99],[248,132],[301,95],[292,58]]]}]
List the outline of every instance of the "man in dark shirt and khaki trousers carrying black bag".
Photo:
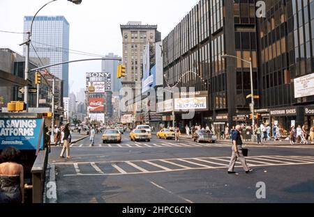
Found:
[{"label": "man in dark shirt and khaki trousers carrying black bag", "polygon": [[241,139],[241,126],[237,125],[235,131],[232,131],[232,156],[231,156],[231,160],[230,160],[230,165],[229,165],[229,170],[228,170],[228,174],[234,174],[236,172],[234,172],[234,166],[235,163],[237,161],[237,159],[239,158],[239,160],[241,161],[241,164],[244,168],[244,170],[246,171],[246,173],[250,173],[253,172],[253,170],[251,170],[250,168],[248,168],[248,165],[246,164],[246,159],[244,157],[244,153],[242,152],[242,139]]}]

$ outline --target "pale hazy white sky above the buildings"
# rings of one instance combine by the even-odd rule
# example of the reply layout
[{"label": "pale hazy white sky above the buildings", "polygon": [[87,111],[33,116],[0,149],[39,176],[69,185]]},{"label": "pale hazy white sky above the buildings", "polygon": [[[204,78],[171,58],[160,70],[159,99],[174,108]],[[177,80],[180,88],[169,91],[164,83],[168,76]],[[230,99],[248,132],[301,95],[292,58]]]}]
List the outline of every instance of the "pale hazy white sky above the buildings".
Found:
[{"label": "pale hazy white sky above the buildings", "polygon": [[[22,32],[24,16],[33,16],[49,0],[0,0],[0,31]],[[122,55],[120,24],[142,21],[157,24],[162,38],[190,11],[198,0],[82,0],[80,5],[59,0],[38,15],[63,15],[70,24],[70,49],[105,55]],[[22,34],[1,33],[0,47],[22,54]],[[70,54],[70,60],[91,58]],[[84,88],[85,72],[100,72],[101,61],[69,65],[70,92]]]}]

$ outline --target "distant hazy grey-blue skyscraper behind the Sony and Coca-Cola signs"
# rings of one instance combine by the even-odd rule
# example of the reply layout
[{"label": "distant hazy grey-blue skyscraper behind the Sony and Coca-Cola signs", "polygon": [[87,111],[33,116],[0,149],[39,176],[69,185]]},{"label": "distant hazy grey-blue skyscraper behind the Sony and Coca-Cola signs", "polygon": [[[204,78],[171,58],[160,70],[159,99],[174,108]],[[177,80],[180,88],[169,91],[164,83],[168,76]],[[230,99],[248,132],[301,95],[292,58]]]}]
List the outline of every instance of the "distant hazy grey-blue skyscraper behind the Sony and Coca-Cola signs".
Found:
[{"label": "distant hazy grey-blue skyscraper behind the Sony and Coca-Cola signs", "polygon": [[[119,56],[114,55],[113,53],[110,53],[106,55],[105,57],[119,58]],[[101,64],[101,72],[111,74],[111,79],[112,79],[111,91],[116,96],[119,95],[119,90],[122,88],[121,79],[117,78],[118,64],[119,64],[119,61],[113,61],[113,60],[105,60]]]}]

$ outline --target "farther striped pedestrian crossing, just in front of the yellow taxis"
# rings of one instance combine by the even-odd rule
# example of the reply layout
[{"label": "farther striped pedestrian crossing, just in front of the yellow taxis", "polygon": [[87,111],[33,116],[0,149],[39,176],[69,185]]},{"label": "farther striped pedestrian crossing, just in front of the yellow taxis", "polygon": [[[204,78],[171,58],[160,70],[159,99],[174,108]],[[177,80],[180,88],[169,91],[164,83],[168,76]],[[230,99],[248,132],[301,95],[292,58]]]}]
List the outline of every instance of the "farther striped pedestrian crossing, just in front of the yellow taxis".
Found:
[{"label": "farther striped pedestrian crossing, just in front of the yellow taxis", "polygon": [[[70,147],[91,147],[89,144],[72,144]],[[120,143],[120,144],[95,144],[94,147],[122,147],[122,148],[146,148],[146,147],[231,147],[230,144],[216,144],[216,143],[193,143],[185,141],[184,143]]]}]

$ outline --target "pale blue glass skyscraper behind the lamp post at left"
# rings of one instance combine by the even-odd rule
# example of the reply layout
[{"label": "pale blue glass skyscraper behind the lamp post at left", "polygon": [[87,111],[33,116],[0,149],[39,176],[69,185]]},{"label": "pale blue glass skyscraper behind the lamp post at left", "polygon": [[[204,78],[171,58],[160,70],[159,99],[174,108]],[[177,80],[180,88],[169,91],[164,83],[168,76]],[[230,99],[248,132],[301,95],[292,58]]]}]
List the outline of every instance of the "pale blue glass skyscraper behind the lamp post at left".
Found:
[{"label": "pale blue glass skyscraper behind the lamp post at left", "polygon": [[[24,17],[24,32],[30,31],[33,17]],[[27,40],[27,35],[24,35]],[[38,16],[33,22],[29,56],[50,58],[50,64],[68,61],[69,24],[63,16]],[[35,50],[36,51],[35,51]],[[37,52],[37,54],[36,54]],[[24,55],[26,49],[24,47]],[[68,97],[68,64],[50,67],[54,76],[63,80],[63,96]]]}]

